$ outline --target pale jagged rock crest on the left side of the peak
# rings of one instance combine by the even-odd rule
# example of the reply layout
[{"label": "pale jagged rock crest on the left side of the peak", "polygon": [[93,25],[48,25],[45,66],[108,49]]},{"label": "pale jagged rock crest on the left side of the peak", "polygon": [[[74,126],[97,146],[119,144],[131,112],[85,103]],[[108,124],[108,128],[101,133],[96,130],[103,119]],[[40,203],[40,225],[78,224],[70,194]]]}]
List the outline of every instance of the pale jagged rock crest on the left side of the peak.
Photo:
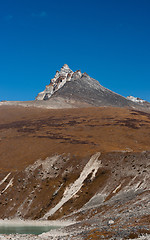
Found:
[{"label": "pale jagged rock crest on the left side of the peak", "polygon": [[50,84],[46,86],[43,92],[40,92],[36,97],[36,100],[47,100],[54,92],[64,86],[67,81],[71,80],[73,71],[67,64],[64,64],[60,71],[56,71],[54,78],[50,80]]}]

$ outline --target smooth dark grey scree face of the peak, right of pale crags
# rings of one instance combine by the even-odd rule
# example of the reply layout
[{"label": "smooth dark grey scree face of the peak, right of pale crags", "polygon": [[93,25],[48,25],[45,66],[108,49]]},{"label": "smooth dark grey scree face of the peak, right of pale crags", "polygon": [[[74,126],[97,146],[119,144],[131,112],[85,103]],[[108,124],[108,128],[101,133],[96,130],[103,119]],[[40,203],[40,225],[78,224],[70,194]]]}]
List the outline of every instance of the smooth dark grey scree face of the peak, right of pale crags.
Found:
[{"label": "smooth dark grey scree face of the peak, right of pale crags", "polygon": [[94,106],[131,106],[134,103],[116,94],[103,86],[98,81],[89,77],[86,73],[74,74],[70,82],[55,92],[52,98],[63,97],[81,102],[86,102]]}]

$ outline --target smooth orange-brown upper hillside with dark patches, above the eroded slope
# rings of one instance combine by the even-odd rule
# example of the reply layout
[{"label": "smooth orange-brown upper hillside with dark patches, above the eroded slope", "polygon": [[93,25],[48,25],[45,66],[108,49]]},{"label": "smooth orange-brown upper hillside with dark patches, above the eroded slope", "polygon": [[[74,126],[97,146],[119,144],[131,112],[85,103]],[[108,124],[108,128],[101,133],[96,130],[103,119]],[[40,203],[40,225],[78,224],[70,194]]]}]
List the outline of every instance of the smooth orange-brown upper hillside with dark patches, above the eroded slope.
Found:
[{"label": "smooth orange-brown upper hillside with dark patches, above the eroded slope", "polygon": [[23,169],[53,154],[150,149],[150,114],[123,108],[0,107],[0,166]]}]

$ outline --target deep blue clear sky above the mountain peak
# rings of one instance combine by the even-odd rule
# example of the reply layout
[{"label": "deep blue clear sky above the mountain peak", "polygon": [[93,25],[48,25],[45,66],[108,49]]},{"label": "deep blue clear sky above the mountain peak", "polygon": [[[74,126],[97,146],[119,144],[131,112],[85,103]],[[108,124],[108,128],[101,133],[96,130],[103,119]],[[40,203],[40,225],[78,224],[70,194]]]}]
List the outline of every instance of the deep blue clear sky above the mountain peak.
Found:
[{"label": "deep blue clear sky above the mountain peak", "polygon": [[67,63],[150,101],[150,0],[3,0],[0,100],[33,100]]}]

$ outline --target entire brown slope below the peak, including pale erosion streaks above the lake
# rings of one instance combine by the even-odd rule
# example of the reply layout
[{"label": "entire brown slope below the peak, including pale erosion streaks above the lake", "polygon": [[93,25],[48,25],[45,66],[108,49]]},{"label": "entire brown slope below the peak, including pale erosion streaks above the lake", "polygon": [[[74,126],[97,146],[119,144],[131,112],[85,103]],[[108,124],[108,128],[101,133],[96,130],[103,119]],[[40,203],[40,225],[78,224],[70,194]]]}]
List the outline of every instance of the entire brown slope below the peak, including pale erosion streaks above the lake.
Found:
[{"label": "entire brown slope below the peak, including pale erosion streaks above the lake", "polygon": [[2,219],[81,221],[72,239],[136,238],[150,232],[149,172],[149,113],[0,106]]}]

